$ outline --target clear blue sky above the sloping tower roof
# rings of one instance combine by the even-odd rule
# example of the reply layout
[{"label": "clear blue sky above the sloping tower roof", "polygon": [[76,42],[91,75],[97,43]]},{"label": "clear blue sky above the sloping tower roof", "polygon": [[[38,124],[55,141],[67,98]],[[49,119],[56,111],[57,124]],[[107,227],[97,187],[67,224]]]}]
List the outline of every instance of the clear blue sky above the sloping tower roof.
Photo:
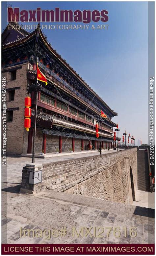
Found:
[{"label": "clear blue sky above the sloping tower roof", "polygon": [[[21,10],[108,10],[108,30],[44,30],[44,34],[52,47],[118,113],[113,121],[119,124],[119,135],[126,128],[136,142],[142,138],[142,143],[147,143],[147,2],[7,3]],[[5,16],[3,11],[2,14]],[[5,17],[2,16],[2,21]],[[5,26],[6,22],[2,22],[2,28]]]}]

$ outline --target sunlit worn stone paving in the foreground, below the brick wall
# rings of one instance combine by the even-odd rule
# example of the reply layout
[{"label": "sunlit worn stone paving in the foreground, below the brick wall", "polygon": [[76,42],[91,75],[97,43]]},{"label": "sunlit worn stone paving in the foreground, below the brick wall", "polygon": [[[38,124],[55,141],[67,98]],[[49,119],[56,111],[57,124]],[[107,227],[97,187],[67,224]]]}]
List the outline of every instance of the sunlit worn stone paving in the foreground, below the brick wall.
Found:
[{"label": "sunlit worn stone paving in the foreground, below the brick wall", "polygon": [[[154,243],[154,218],[135,215],[136,206],[52,191],[37,196],[7,194],[7,216],[5,209],[2,214],[3,243]],[[79,235],[82,227],[84,233]],[[21,228],[33,229],[34,234],[47,229],[48,239],[44,234],[33,237],[33,231],[30,237],[28,233],[22,237]],[[61,237],[65,228],[66,234]],[[49,230],[57,230],[58,237],[48,235]]]}]

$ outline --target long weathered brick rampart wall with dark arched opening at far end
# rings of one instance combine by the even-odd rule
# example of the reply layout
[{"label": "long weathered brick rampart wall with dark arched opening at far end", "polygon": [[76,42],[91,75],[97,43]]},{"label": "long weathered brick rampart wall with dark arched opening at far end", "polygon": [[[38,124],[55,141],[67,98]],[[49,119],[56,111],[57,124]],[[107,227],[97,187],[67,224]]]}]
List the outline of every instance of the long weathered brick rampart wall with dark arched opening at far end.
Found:
[{"label": "long weathered brick rampart wall with dark arched opening at far end", "polygon": [[23,167],[21,192],[37,193],[46,188],[98,199],[132,203],[130,167],[137,190],[137,149],[102,156],[43,164],[42,183],[29,185],[28,167]]}]

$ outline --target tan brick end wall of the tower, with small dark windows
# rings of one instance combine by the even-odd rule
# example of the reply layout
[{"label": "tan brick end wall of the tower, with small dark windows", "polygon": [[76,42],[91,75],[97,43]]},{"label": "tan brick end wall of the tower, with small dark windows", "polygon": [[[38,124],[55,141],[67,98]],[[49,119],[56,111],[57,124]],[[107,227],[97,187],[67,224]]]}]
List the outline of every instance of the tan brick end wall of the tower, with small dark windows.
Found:
[{"label": "tan brick end wall of the tower, with small dark windows", "polygon": [[[2,73],[2,77],[7,79],[7,89],[20,87],[15,90],[14,100],[9,101],[9,91],[7,91],[7,108],[19,108],[13,110],[13,121],[7,122],[7,153],[21,154],[26,153],[27,146],[23,147],[24,141],[28,139],[28,132],[24,128],[24,98],[27,96],[27,66],[19,65],[22,68],[17,69],[16,79],[11,80],[10,67]],[[17,66],[16,66],[17,67]]]}]

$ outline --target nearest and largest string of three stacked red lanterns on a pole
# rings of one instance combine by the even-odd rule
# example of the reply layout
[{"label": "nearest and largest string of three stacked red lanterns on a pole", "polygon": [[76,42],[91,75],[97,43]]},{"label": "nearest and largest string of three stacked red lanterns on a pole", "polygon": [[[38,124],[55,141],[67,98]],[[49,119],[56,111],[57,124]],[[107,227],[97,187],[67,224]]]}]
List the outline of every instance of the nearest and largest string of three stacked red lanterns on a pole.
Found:
[{"label": "nearest and largest string of three stacked red lanterns on a pole", "polygon": [[24,116],[26,117],[24,119],[24,127],[27,131],[29,131],[29,128],[31,127],[31,98],[27,96],[25,98],[25,110],[24,110]]}]

